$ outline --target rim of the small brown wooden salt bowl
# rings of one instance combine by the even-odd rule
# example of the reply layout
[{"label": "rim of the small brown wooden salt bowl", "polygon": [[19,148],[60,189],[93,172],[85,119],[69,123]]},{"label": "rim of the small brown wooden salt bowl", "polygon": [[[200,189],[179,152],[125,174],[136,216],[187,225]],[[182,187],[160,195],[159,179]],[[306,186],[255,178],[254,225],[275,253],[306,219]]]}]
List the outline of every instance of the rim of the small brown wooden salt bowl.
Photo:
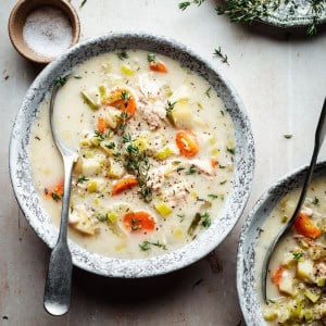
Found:
[{"label": "rim of the small brown wooden salt bowl", "polygon": [[[72,47],[74,47],[80,37],[80,21],[79,21],[79,16],[77,14],[76,9],[66,0],[57,0],[58,2],[61,2],[71,13],[71,15],[66,14],[64,12],[64,15],[66,15],[68,17],[68,20],[73,20],[73,22],[71,23],[72,26],[72,43],[70,45],[70,49]],[[47,1],[45,1],[47,2]],[[39,63],[39,64],[47,64],[53,60],[55,60],[57,58],[48,58],[48,57],[42,57],[39,55],[38,53],[33,52],[33,50],[30,49],[30,51],[33,52],[33,55],[28,52],[28,51],[24,51],[24,46],[21,46],[20,42],[16,39],[16,34],[14,32],[14,26],[15,26],[15,22],[16,22],[16,15],[17,13],[22,10],[22,5],[24,5],[26,3],[26,0],[18,0],[14,7],[11,10],[9,20],[8,20],[8,34],[9,34],[9,38],[11,40],[11,43],[13,45],[14,49],[25,59],[28,59],[33,62]],[[55,7],[57,9],[60,9],[58,4],[49,4],[49,3],[42,3],[41,5],[37,5],[36,8],[41,8],[41,7]],[[60,9],[61,10],[61,9]],[[26,46],[28,48],[28,46]],[[28,48],[29,49],[29,48]],[[59,57],[58,57],[59,58]]]}]

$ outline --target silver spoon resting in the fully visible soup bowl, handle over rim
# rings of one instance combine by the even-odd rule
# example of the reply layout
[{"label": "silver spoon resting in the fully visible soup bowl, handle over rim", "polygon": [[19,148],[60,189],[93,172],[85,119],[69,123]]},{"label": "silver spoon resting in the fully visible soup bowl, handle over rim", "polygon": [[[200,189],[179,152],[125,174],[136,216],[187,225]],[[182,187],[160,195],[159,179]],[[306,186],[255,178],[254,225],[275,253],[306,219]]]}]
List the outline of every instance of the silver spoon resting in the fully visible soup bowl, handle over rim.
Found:
[{"label": "silver spoon resting in the fully visible soup bowl, handle over rim", "polygon": [[63,315],[70,310],[72,288],[72,254],[67,246],[67,218],[71,198],[71,181],[74,163],[78,155],[67,148],[60,139],[53,118],[53,106],[60,84],[53,86],[50,100],[50,125],[54,142],[62,155],[64,165],[64,188],[62,198],[62,211],[60,233],[55,247],[52,250],[45,289],[45,309],[51,315]]}]

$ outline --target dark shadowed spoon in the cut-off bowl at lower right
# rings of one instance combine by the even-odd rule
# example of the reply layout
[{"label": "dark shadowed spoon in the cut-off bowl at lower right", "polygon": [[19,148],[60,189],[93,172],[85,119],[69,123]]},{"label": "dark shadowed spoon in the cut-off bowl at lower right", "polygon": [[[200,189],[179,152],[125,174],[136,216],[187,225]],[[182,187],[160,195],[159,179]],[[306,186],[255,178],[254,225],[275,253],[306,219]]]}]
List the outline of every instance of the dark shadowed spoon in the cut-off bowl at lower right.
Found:
[{"label": "dark shadowed spoon in the cut-off bowl at lower right", "polygon": [[263,290],[263,298],[264,298],[266,303],[267,303],[266,281],[267,281],[267,275],[268,275],[268,267],[269,267],[271,258],[272,258],[273,252],[274,252],[275,248],[277,247],[278,242],[283,239],[283,237],[292,227],[292,225],[293,225],[293,223],[297,218],[297,215],[298,215],[298,213],[299,213],[299,211],[302,206],[302,203],[304,202],[306,190],[308,190],[308,187],[311,183],[311,177],[312,177],[314,167],[316,165],[317,156],[318,156],[318,153],[319,153],[319,149],[323,145],[325,135],[326,135],[326,98],[324,100],[324,105],[323,105],[322,113],[321,113],[321,116],[319,116],[319,121],[318,121],[318,124],[317,124],[317,128],[316,128],[316,131],[315,131],[314,151],[313,151],[313,154],[312,154],[312,158],[311,158],[311,163],[310,163],[309,170],[306,172],[306,176],[305,176],[305,179],[304,179],[303,188],[301,190],[301,195],[300,195],[297,208],[294,210],[293,215],[288,221],[287,225],[280,230],[280,233],[276,236],[276,238],[274,239],[274,241],[272,242],[272,244],[267,249],[265,260],[263,262],[262,290]]}]

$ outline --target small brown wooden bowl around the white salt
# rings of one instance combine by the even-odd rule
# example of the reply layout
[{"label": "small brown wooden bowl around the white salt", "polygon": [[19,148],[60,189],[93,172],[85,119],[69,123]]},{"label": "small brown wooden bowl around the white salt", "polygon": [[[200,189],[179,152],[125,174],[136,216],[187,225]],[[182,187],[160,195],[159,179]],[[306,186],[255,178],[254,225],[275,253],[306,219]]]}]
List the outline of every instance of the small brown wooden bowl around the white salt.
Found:
[{"label": "small brown wooden bowl around the white salt", "polygon": [[70,20],[73,34],[71,47],[74,46],[79,39],[80,22],[75,9],[65,0],[20,0],[15,4],[10,14],[8,23],[8,30],[12,45],[24,58],[37,63],[46,64],[51,62],[55,58],[38,55],[30,48],[28,48],[23,38],[23,27],[27,16],[34,10],[42,7],[57,8],[61,10]]}]

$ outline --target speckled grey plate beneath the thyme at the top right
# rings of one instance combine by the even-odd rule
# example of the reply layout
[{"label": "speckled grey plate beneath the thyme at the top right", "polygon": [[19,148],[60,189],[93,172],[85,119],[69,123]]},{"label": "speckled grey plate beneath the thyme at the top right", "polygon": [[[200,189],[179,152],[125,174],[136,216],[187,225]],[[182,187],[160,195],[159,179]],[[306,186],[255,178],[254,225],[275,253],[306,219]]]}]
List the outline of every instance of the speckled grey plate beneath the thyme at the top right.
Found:
[{"label": "speckled grey plate beneath the thyme at the top right", "polygon": [[[296,4],[296,5],[293,5]],[[274,10],[269,5],[268,15],[261,21],[278,27],[300,27],[312,24],[314,14],[310,0],[281,1],[280,5]],[[319,23],[326,22],[326,8],[319,15]]]}]

